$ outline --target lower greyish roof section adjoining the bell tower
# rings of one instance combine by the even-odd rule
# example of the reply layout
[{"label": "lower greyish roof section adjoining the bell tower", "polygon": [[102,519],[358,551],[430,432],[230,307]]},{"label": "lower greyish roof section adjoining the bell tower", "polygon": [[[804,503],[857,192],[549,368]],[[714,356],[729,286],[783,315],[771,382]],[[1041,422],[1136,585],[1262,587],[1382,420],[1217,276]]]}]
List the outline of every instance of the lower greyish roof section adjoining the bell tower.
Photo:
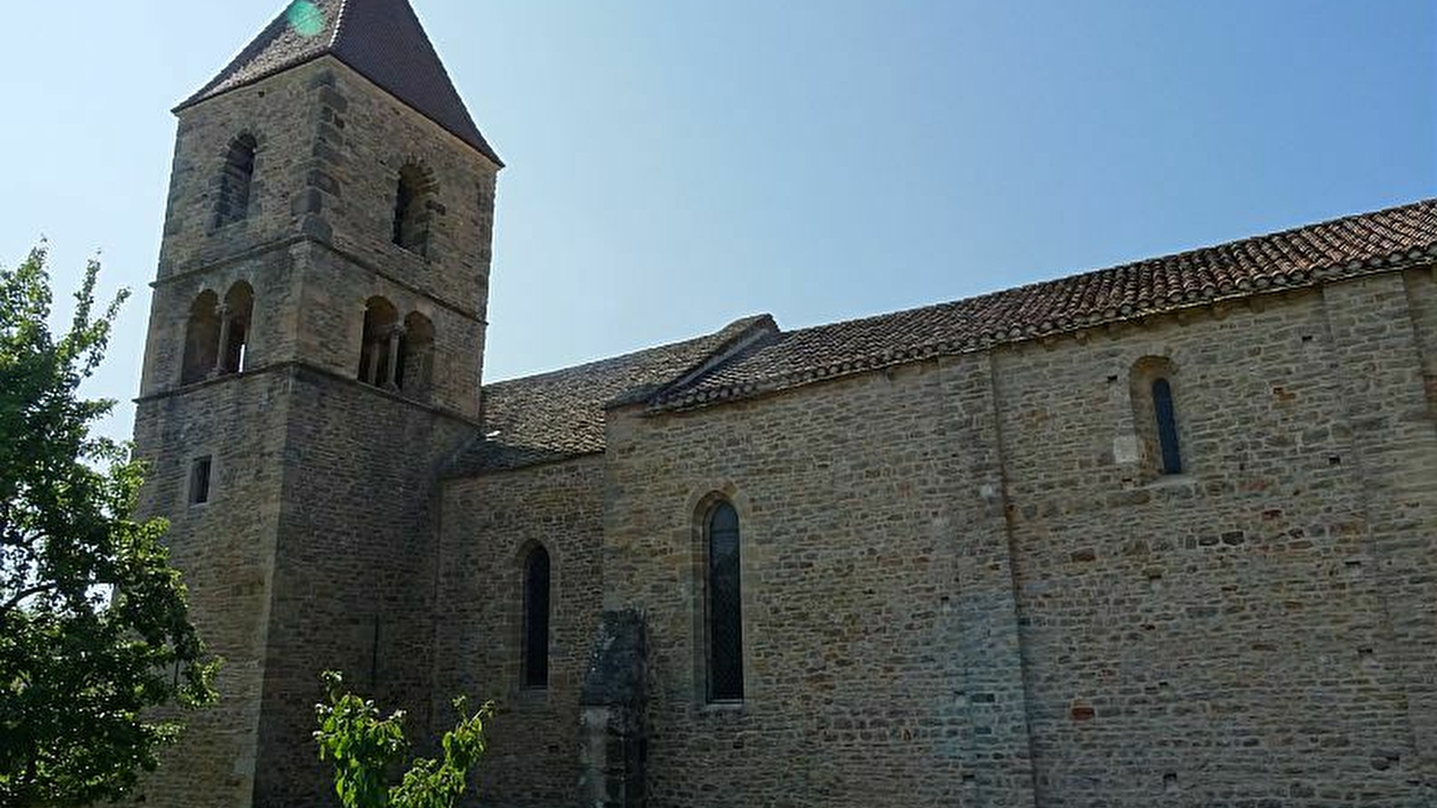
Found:
[{"label": "lower greyish roof section adjoining the bell tower", "polygon": [[777,326],[744,318],[704,336],[484,385],[484,436],[464,449],[450,474],[533,466],[604,451],[604,410],[616,400],[647,401],[662,385],[701,372]]}]

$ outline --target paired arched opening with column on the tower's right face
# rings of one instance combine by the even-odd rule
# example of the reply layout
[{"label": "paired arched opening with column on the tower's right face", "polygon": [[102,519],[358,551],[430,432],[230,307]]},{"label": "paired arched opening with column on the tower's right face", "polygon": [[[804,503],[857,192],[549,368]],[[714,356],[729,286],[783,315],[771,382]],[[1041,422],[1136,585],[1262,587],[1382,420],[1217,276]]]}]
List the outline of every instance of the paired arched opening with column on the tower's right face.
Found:
[{"label": "paired arched opening with column on the tower's right face", "polygon": [[365,303],[359,381],[414,398],[430,392],[434,375],[434,323],[420,312],[399,321],[385,298]]}]

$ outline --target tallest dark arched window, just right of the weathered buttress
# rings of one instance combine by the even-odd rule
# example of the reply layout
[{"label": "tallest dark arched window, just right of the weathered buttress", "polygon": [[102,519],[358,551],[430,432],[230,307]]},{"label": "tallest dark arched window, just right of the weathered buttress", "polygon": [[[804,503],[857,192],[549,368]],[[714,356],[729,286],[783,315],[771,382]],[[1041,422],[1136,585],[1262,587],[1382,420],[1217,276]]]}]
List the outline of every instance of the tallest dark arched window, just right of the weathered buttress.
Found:
[{"label": "tallest dark arched window, just right of the weathered buttress", "polygon": [[720,502],[706,525],[708,575],[706,628],[708,647],[708,700],[743,699],[743,598],[739,558],[739,512]]}]

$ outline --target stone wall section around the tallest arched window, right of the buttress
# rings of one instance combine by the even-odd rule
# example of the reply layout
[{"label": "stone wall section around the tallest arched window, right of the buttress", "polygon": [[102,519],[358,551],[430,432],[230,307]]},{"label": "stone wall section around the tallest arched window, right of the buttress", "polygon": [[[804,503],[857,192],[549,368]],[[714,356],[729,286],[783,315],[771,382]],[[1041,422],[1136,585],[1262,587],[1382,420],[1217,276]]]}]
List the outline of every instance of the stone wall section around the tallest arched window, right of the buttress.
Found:
[{"label": "stone wall section around the tallest arched window, right of the buttress", "polygon": [[[650,627],[651,807],[1032,807],[981,355],[611,413],[605,608]],[[740,516],[746,693],[706,704],[703,549]]]}]

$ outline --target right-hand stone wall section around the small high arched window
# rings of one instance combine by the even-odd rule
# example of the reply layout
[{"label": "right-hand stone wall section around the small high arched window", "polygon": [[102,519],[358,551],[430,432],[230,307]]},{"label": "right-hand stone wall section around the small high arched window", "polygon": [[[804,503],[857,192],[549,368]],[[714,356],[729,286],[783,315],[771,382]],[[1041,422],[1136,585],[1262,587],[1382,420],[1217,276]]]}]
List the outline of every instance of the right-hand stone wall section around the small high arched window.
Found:
[{"label": "right-hand stone wall section around the small high arched window", "polygon": [[[1400,276],[997,355],[1040,805],[1421,804],[1362,460],[1391,424],[1354,418],[1338,335],[1401,328],[1371,283]],[[1122,450],[1144,357],[1175,369],[1180,476]],[[1410,342],[1390,359],[1420,395]]]}]

